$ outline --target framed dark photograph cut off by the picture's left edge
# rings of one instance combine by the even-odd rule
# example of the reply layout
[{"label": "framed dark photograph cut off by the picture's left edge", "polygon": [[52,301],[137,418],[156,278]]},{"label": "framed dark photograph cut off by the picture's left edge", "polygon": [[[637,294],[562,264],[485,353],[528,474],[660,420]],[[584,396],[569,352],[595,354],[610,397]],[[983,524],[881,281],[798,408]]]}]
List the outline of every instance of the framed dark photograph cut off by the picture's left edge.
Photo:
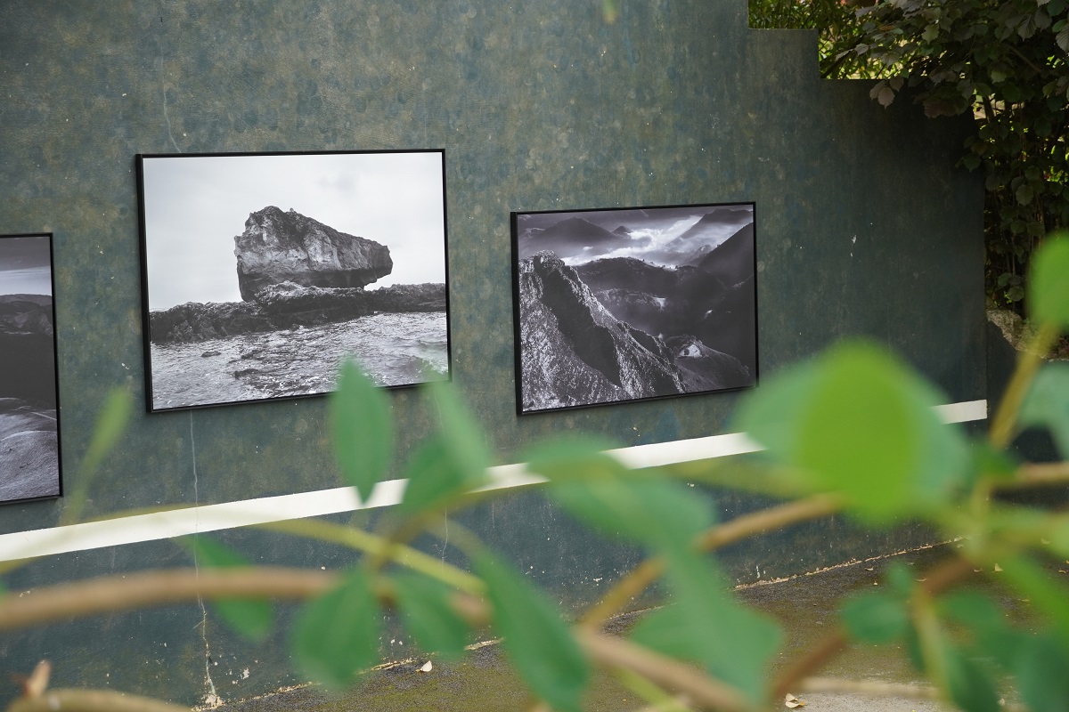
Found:
[{"label": "framed dark photograph cut off by the picture's left edge", "polygon": [[0,502],[57,497],[52,236],[0,236]]}]

